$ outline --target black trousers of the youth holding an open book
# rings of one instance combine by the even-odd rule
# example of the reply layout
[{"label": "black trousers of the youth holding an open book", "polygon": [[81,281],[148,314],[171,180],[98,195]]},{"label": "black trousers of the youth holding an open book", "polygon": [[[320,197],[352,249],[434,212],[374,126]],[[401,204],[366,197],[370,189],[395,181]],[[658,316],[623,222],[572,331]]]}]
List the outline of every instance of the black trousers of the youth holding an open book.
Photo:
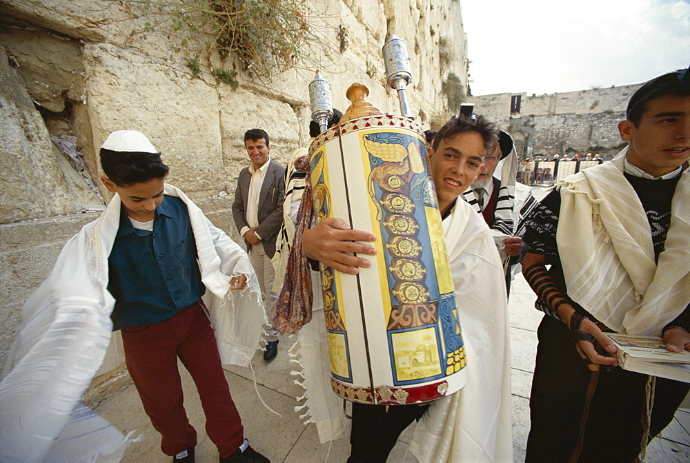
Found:
[{"label": "black trousers of the youth holding an open book", "polygon": [[[563,322],[544,316],[538,329],[525,461],[567,462],[582,433],[578,461],[633,462],[646,428],[649,377],[618,367],[593,374],[580,360],[571,337]],[[586,409],[588,389],[591,401]],[[657,378],[650,440],[673,420],[689,389],[690,384]]]}]

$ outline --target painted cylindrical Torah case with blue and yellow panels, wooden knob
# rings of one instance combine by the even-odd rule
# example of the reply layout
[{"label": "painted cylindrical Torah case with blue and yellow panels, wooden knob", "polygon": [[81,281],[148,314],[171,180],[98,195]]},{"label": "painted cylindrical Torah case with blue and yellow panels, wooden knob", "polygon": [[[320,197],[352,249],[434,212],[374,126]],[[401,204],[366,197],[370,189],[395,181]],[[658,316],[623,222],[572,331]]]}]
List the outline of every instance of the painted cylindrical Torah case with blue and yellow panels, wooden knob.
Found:
[{"label": "painted cylindrical Torah case with blue and yellow panels, wooden knob", "polygon": [[341,123],[309,149],[317,222],[342,218],[377,237],[358,275],[322,267],[331,386],[353,402],[429,402],[468,380],[441,216],[422,127],[367,93],[353,84]]}]

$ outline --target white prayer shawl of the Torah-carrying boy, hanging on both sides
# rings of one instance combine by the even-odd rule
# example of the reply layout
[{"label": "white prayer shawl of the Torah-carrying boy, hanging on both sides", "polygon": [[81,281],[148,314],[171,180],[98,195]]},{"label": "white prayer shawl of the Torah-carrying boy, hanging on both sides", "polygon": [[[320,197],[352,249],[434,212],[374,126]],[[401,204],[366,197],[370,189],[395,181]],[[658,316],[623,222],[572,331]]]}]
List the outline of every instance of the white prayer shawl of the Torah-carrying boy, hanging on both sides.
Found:
[{"label": "white prayer shawl of the Torah-carrying boy, hanging on both sides", "polygon": [[[512,462],[508,309],[500,260],[486,223],[463,201],[457,201],[443,229],[470,380],[461,391],[432,402],[410,450],[420,462]],[[323,311],[315,310],[312,322],[299,332],[299,364],[307,389],[303,416],[311,415],[324,443],[346,437],[349,423],[328,380],[322,319]],[[309,341],[303,342],[303,336]]]}]

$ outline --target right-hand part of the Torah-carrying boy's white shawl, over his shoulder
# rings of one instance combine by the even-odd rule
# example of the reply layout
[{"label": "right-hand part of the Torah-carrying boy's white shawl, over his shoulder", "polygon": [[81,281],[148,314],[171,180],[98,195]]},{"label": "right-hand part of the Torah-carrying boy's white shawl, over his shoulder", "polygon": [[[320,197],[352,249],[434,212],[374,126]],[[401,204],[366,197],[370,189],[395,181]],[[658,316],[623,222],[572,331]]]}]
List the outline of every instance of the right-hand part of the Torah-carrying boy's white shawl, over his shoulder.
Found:
[{"label": "right-hand part of the Torah-carrying boy's white shawl, over his shoulder", "polygon": [[512,462],[511,356],[503,272],[484,219],[457,201],[443,221],[468,384],[435,400],[410,450],[420,462]]}]

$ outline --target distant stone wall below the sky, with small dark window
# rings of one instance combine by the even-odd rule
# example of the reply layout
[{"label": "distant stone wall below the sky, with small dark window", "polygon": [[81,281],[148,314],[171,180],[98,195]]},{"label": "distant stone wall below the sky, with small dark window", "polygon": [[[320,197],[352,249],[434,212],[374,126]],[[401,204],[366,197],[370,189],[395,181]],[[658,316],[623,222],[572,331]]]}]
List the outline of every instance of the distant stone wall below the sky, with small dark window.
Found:
[{"label": "distant stone wall below the sky, with small dark window", "polygon": [[[596,152],[611,158],[622,147],[618,122],[625,119],[628,100],[640,85],[540,96],[501,93],[468,100],[475,103],[477,114],[508,130],[517,145],[531,146],[535,155]],[[521,97],[519,114],[511,114],[513,96]]]}]

